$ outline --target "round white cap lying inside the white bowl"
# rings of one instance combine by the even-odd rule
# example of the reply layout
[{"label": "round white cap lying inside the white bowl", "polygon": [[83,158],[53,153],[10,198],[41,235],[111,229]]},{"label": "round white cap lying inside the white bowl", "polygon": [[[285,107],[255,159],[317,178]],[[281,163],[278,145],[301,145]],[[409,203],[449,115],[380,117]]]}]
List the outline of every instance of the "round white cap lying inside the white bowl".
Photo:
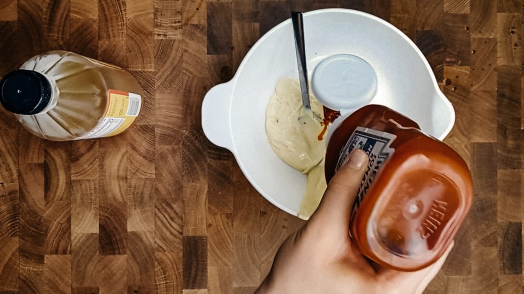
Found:
[{"label": "round white cap lying inside the white bowl", "polygon": [[337,54],[322,60],[314,69],[311,85],[315,97],[334,110],[356,110],[377,92],[377,75],[364,59]]}]

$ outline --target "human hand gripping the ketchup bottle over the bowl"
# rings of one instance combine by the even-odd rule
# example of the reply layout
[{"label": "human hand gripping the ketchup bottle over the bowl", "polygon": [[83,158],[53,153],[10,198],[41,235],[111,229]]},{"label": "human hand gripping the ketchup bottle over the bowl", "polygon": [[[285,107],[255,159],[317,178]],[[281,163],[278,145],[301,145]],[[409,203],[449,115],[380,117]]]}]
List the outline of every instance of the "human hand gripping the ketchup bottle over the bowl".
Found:
[{"label": "human hand gripping the ketchup bottle over the bowl", "polygon": [[417,272],[370,265],[348,235],[350,214],[368,158],[354,150],[331,179],[310,220],[280,246],[257,289],[273,293],[421,294],[439,272],[453,243],[434,264]]}]

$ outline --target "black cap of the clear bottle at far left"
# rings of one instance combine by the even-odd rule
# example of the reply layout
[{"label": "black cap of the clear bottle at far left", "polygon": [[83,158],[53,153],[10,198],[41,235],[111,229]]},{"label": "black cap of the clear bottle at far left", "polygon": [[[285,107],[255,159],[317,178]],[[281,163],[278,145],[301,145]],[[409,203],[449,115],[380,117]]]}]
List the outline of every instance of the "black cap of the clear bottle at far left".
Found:
[{"label": "black cap of the clear bottle at far left", "polygon": [[51,84],[39,72],[16,70],[0,81],[0,103],[15,114],[38,114],[50,100]]}]

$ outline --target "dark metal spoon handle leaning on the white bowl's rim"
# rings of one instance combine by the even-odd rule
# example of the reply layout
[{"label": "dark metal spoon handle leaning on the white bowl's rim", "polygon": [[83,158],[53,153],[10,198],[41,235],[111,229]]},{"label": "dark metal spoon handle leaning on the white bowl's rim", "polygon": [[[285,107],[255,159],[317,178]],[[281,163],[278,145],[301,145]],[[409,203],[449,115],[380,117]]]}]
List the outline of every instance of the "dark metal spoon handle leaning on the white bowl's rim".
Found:
[{"label": "dark metal spoon handle leaning on the white bowl's rim", "polygon": [[297,63],[300,78],[300,92],[302,94],[302,105],[305,109],[311,109],[309,102],[308,68],[305,61],[304,23],[302,20],[302,13],[291,12],[291,21],[293,22],[295,48],[297,49]]}]

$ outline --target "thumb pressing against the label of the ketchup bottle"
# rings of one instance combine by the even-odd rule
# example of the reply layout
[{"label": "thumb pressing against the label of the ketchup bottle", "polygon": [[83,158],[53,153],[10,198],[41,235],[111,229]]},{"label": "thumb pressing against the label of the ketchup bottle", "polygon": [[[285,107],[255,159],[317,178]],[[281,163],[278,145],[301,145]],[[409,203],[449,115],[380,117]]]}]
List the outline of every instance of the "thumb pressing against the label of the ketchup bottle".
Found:
[{"label": "thumb pressing against the label of the ketchup bottle", "polygon": [[367,154],[355,149],[331,179],[319,208],[313,213],[310,225],[347,233],[353,202],[368,164]]}]

